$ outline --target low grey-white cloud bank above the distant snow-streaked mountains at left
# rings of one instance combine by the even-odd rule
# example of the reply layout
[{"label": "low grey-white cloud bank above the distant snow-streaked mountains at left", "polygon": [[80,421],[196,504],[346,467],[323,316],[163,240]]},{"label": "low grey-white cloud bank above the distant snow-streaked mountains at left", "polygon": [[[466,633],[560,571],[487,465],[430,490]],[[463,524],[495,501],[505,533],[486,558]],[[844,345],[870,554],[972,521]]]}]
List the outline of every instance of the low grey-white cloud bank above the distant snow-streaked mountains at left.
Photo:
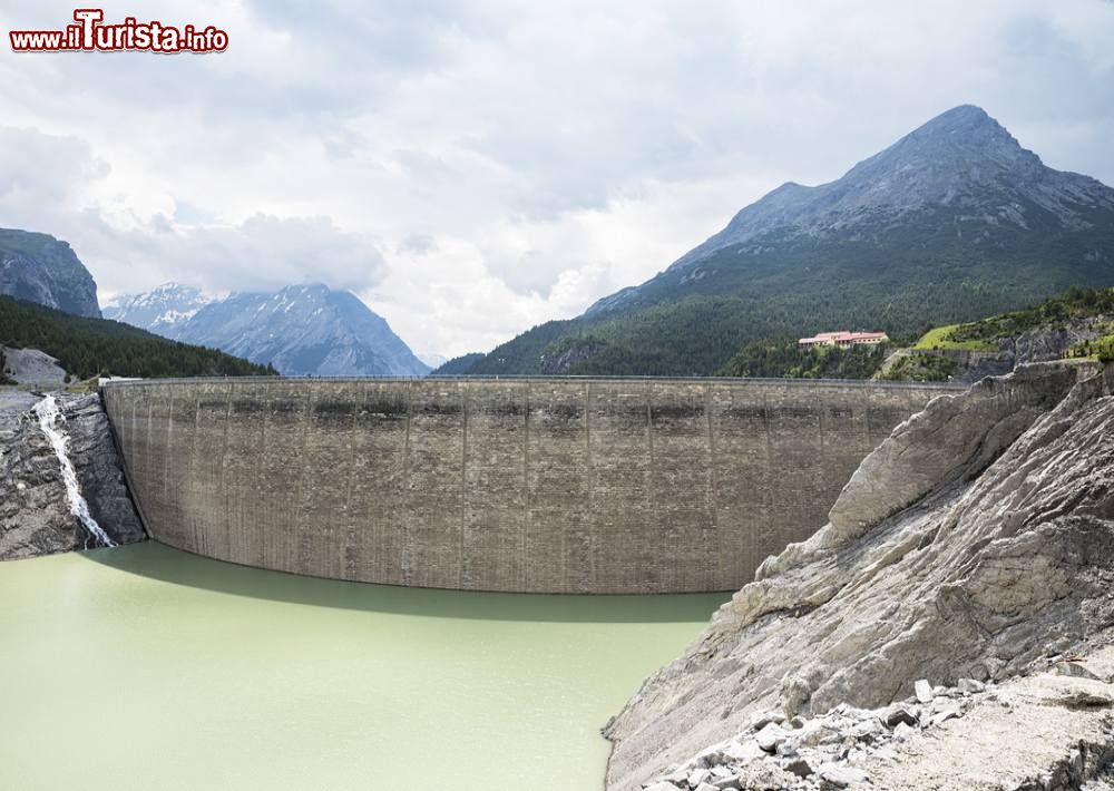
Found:
[{"label": "low grey-white cloud bank above the distant snow-streaked mountains at left", "polygon": [[[311,282],[358,290],[382,280],[385,262],[378,240],[343,231],[329,217],[260,213],[218,225],[183,224],[178,211],[174,219],[163,213],[117,216],[105,188],[109,175],[110,168],[76,138],[0,127],[3,223],[65,237],[110,292],[167,281],[221,291]],[[96,196],[106,193],[109,199],[97,203]],[[196,208],[185,207],[199,217]]]}]

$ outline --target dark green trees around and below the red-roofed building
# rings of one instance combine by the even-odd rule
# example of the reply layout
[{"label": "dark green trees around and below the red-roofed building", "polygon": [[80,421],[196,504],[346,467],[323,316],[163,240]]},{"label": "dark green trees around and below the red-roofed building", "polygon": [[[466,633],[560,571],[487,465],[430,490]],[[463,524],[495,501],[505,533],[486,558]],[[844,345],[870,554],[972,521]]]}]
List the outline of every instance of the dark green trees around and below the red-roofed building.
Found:
[{"label": "dark green trees around and below the red-roofed building", "polygon": [[889,344],[877,346],[801,346],[795,340],[747,343],[716,371],[720,377],[789,379],[870,379]]}]

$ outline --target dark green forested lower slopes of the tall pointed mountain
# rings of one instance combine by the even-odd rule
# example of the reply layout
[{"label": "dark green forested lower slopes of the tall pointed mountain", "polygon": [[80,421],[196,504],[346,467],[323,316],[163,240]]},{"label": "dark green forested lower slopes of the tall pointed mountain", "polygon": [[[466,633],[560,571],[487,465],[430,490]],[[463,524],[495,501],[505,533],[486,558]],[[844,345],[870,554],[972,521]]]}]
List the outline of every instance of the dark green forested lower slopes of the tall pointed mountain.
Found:
[{"label": "dark green forested lower slopes of the tall pointed mountain", "polygon": [[[616,297],[612,310],[536,326],[468,372],[541,373],[550,344],[590,335],[606,346],[567,373],[712,374],[753,342],[882,328],[911,343],[926,325],[1017,311],[1073,283],[1111,284],[1110,265],[1094,251],[1114,248],[1114,228],[1097,209],[1081,208],[1094,223],[1086,234],[1049,218],[1028,231],[998,226],[978,245],[957,236],[957,212],[926,209],[856,241],[771,238],[716,251]],[[950,343],[960,345],[948,348],[985,348],[978,341],[989,338],[954,332]]]}]

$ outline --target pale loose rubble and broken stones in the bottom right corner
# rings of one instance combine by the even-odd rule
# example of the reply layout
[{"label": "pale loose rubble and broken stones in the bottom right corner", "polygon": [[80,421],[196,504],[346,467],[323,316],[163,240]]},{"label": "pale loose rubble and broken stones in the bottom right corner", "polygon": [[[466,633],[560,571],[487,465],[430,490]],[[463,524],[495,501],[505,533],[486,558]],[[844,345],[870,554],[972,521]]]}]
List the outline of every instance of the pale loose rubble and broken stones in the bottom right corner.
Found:
[{"label": "pale loose rubble and broken stones in the bottom right corner", "polygon": [[1114,658],[1059,661],[1051,672],[916,693],[874,710],[813,717],[759,712],[744,732],[649,783],[654,791],[1111,791]]}]

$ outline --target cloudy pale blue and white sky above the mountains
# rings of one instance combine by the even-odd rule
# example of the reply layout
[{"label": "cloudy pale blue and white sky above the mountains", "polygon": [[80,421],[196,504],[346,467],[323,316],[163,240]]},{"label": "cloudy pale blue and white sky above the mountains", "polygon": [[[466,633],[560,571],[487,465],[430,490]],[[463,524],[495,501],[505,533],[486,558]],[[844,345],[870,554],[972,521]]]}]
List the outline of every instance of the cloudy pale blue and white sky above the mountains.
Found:
[{"label": "cloudy pale blue and white sky above the mountains", "polygon": [[74,8],[0,0],[0,227],[101,302],[323,282],[487,351],[960,104],[1114,184],[1110,0],[127,0],[229,46],[11,51]]}]

